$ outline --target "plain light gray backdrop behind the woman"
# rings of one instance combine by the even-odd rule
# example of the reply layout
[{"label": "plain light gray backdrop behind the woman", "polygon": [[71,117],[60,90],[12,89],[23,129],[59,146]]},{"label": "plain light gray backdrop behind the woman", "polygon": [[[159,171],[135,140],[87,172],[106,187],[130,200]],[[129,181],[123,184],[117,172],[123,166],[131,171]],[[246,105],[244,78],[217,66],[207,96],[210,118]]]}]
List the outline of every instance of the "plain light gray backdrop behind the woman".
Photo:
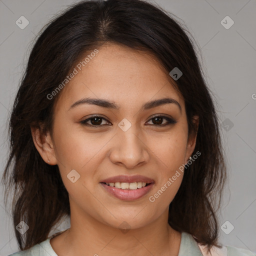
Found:
[{"label": "plain light gray backdrop behind the woman", "polygon": [[[0,0],[0,175],[7,156],[6,121],[29,50],[41,27],[75,0]],[[224,193],[220,241],[256,252],[256,1],[155,0],[181,18],[202,52],[203,70],[218,101],[229,181]],[[15,21],[25,16],[20,29]],[[220,21],[228,15],[234,24]],[[224,19],[225,20],[225,19]],[[230,24],[230,20],[224,21]],[[232,126],[233,125],[233,126]],[[0,255],[17,251],[10,208],[0,187]],[[68,219],[52,233],[69,227]]]}]

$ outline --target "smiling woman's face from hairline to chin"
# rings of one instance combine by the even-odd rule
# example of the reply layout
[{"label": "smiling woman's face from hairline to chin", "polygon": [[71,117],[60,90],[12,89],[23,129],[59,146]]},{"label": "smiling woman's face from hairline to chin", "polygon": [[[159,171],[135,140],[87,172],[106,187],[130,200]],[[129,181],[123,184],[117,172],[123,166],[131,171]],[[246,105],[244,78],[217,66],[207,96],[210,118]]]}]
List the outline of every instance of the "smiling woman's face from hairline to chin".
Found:
[{"label": "smiling woman's face from hairline to chin", "polygon": [[[71,213],[112,227],[122,221],[131,228],[145,226],[167,212],[183,172],[172,177],[194,149],[184,100],[156,60],[130,48],[105,44],[76,69],[54,108],[51,147],[47,156],[42,151],[41,155],[58,165]],[[86,103],[85,98],[116,107]],[[149,103],[162,98],[170,99]],[[108,178],[109,183],[118,182],[111,179],[118,175],[143,175],[130,183],[151,184],[124,190],[101,183]]]}]

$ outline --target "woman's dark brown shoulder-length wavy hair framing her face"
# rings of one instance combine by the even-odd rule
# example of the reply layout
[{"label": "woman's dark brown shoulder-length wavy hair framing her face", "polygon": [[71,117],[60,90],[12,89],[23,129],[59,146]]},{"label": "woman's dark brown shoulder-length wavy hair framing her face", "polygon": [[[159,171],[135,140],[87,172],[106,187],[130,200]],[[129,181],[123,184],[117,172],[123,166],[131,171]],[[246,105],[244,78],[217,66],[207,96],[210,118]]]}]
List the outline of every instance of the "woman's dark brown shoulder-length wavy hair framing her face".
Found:
[{"label": "woman's dark brown shoulder-length wavy hair framing her face", "polygon": [[194,235],[208,248],[218,246],[216,212],[226,166],[213,94],[206,86],[189,35],[173,14],[142,0],[81,1],[42,29],[13,104],[10,153],[2,177],[5,204],[8,190],[15,185],[14,227],[21,220],[29,226],[25,235],[14,228],[21,250],[45,240],[52,226],[70,215],[68,193],[58,166],[43,161],[30,127],[43,124],[44,131],[51,131],[54,103],[61,91],[51,100],[46,95],[63,81],[81,56],[105,42],[151,52],[167,75],[176,66],[182,71],[175,84],[184,98],[189,134],[196,132],[192,116],[199,116],[194,152],[201,155],[184,171],[169,206],[168,223],[177,231]]}]

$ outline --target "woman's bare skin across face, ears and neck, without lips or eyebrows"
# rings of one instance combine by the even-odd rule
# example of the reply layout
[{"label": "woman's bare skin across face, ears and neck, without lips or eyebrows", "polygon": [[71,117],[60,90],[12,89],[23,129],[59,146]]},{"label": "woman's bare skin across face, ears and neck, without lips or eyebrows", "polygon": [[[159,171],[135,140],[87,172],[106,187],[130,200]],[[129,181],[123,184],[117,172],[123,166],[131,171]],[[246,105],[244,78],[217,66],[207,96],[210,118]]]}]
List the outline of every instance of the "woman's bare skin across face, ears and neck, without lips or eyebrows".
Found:
[{"label": "woman's bare skin across face, ears and neck, without lips or eyebrows", "polygon": [[[70,228],[51,238],[50,244],[60,256],[178,255],[181,234],[169,226],[167,218],[183,173],[154,202],[148,198],[194,150],[196,135],[188,136],[184,100],[152,56],[113,43],[98,50],[61,90],[52,136],[31,128],[38,152],[46,163],[58,165],[69,194]],[[69,109],[84,97],[111,100],[120,108],[80,104]],[[140,111],[145,102],[164,97],[175,99],[181,111],[174,103]],[[106,119],[98,122],[102,126],[80,123],[92,114]],[[152,119],[159,115],[176,123],[159,126],[167,122]],[[131,124],[126,131],[118,127],[123,118]],[[198,124],[198,117],[194,118]],[[87,123],[93,125],[91,120]],[[66,176],[72,169],[80,174],[74,183]],[[118,174],[141,174],[155,182],[142,198],[124,201],[105,192],[99,183]],[[123,221],[130,226],[126,233],[118,228]]]}]

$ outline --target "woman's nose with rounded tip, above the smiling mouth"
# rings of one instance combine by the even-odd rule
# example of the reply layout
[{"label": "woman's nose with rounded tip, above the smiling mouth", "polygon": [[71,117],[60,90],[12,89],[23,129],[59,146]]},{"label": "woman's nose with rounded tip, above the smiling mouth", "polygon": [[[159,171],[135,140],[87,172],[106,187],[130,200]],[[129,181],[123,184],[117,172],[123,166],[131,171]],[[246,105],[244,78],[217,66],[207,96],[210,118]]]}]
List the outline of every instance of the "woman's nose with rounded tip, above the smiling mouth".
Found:
[{"label": "woman's nose with rounded tip, above the smiling mouth", "polygon": [[109,158],[114,164],[132,169],[148,162],[150,156],[145,137],[135,129],[135,125],[131,125],[126,131],[117,128],[109,153]]}]

